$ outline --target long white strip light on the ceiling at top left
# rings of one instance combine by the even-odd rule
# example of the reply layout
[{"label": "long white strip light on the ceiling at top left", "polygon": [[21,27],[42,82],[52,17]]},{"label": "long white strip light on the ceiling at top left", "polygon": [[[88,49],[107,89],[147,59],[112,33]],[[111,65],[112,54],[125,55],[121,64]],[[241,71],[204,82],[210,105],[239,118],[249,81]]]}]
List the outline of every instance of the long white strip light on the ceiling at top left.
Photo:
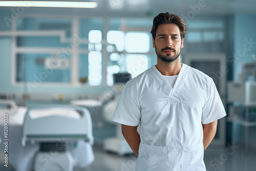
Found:
[{"label": "long white strip light on the ceiling at top left", "polygon": [[66,1],[0,1],[0,7],[96,8],[97,3]]}]

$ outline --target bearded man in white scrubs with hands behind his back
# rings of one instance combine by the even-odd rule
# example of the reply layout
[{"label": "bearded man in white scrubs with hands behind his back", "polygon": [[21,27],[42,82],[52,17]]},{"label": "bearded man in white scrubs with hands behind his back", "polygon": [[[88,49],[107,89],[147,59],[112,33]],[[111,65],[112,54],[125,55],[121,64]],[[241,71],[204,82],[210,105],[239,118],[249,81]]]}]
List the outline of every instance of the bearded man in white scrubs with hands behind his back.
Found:
[{"label": "bearded man in white scrubs with hands behind his back", "polygon": [[220,96],[210,77],[180,62],[186,25],[178,15],[160,13],[151,33],[157,65],[126,83],[113,121],[137,171],[205,171],[204,150],[226,115]]}]

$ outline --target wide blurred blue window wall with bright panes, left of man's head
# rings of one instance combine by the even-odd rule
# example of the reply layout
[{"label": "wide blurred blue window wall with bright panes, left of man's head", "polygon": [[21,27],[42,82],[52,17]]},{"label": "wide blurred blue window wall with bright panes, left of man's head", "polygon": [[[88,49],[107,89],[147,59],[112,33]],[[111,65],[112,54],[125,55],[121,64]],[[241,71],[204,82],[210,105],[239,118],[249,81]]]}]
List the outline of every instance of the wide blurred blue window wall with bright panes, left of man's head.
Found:
[{"label": "wide blurred blue window wall with bright panes, left of man's head", "polygon": [[[48,86],[112,86],[114,73],[130,72],[134,78],[152,65],[155,51],[146,31],[152,19],[31,16],[14,22],[17,36],[12,80],[20,85],[40,78],[42,86],[51,82],[54,84]],[[109,28],[104,28],[104,22],[109,22]]]}]

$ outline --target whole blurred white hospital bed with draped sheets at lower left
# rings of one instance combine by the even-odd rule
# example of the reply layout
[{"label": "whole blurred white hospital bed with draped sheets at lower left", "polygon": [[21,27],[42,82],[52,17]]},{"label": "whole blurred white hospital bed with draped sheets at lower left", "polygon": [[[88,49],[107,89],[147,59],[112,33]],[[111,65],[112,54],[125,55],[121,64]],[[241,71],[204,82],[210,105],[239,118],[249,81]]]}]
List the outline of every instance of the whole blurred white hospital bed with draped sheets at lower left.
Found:
[{"label": "whole blurred white hospital bed with draped sheets at lower left", "polygon": [[[26,107],[17,106],[12,100],[0,100],[0,106],[2,106],[0,109],[1,116],[4,113],[9,113],[8,156],[9,163],[15,170],[24,171],[32,168],[43,170],[44,167],[39,169],[40,160],[44,161],[43,164],[48,162],[44,166],[50,167],[52,165],[53,170],[59,170],[54,165],[59,166],[60,163],[61,165],[63,163],[68,165],[66,166],[68,169],[61,168],[61,170],[72,170],[72,165],[86,167],[94,161],[91,118],[86,109],[69,105],[48,105],[28,110]],[[16,113],[14,109],[17,111]],[[2,124],[3,122],[0,120],[0,132],[4,132]],[[52,130],[49,129],[50,127]],[[59,136],[61,137],[59,138]],[[1,138],[4,139],[3,134],[0,134]],[[66,154],[62,153],[61,155],[53,148],[50,151],[53,156],[47,156],[52,158],[51,160],[46,161],[45,158],[40,158],[41,151],[46,152],[49,145],[50,150],[52,149],[51,145],[57,145],[58,150]],[[61,145],[62,148],[59,149]],[[4,152],[3,149],[2,141],[0,143],[1,152]],[[67,159],[69,162],[65,162],[65,160],[68,161]]]}]

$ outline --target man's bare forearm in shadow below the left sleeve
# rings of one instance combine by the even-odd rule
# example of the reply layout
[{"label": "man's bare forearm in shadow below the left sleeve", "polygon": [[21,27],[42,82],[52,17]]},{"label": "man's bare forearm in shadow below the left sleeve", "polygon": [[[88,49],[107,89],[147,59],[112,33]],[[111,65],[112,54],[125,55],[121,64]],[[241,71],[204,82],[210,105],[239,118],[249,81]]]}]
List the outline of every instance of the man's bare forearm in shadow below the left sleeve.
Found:
[{"label": "man's bare forearm in shadow below the left sleeve", "polygon": [[122,134],[133,152],[139,156],[140,135],[137,132],[137,127],[122,124]]}]

